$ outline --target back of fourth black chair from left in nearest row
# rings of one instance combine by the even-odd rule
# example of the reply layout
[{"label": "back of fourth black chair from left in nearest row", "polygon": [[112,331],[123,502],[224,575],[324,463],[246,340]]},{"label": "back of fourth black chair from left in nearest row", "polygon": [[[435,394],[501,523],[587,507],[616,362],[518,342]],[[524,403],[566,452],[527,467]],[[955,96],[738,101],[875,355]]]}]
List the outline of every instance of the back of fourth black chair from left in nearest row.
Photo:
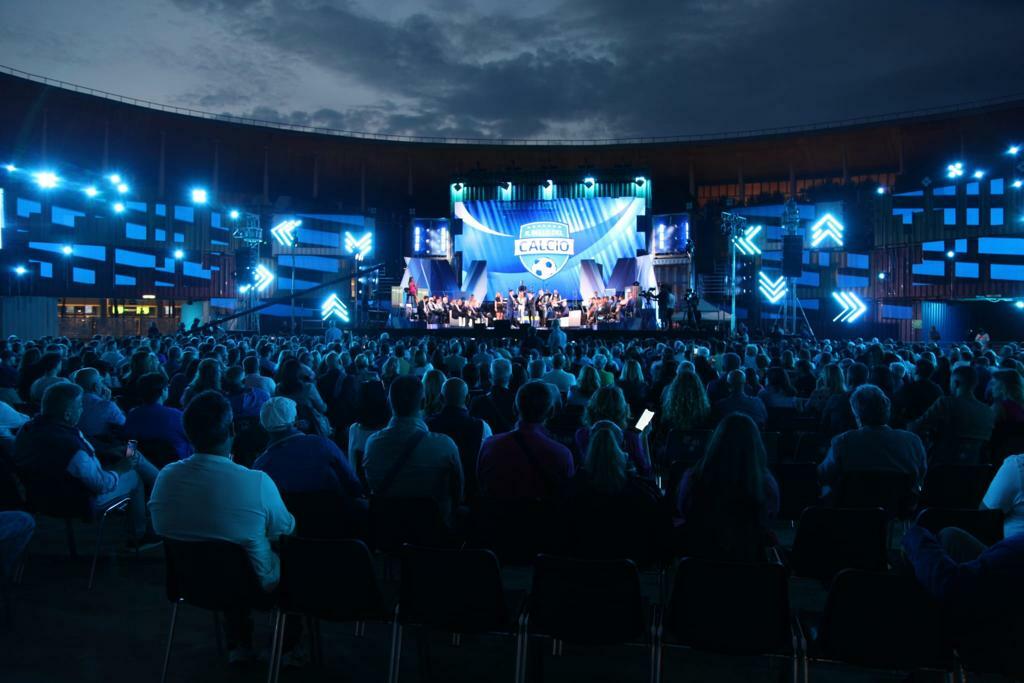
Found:
[{"label": "back of fourth black chair from left in nearest row", "polygon": [[568,643],[614,645],[646,629],[640,573],[630,560],[539,555],[528,629]]}]

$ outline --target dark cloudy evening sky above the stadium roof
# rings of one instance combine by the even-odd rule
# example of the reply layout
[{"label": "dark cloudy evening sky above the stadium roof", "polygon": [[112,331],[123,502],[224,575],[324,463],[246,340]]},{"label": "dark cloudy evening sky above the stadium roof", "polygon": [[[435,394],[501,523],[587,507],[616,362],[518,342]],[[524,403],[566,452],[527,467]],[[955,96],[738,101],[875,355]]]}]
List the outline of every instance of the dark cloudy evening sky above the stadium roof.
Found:
[{"label": "dark cloudy evening sky above the stadium roof", "polygon": [[350,131],[630,137],[1024,95],[1022,31],[1022,0],[3,0],[0,65]]}]

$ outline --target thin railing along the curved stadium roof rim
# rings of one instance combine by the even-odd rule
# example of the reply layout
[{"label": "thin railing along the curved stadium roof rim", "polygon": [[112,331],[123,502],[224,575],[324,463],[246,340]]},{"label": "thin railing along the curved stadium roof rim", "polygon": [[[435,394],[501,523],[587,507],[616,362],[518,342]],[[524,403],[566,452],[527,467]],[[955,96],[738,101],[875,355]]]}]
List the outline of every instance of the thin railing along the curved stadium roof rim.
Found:
[{"label": "thin railing along the curved stadium roof rim", "polygon": [[658,144],[667,142],[697,142],[712,140],[730,140],[745,137],[763,137],[767,135],[783,135],[788,133],[805,133],[829,128],[844,128],[849,126],[862,126],[872,123],[888,123],[904,121],[907,119],[919,119],[923,117],[955,114],[957,112],[971,112],[1002,104],[1022,103],[1024,104],[1024,93],[1006,95],[1002,97],[991,97],[956,104],[943,106],[931,106],[903,112],[893,112],[888,114],[878,114],[871,116],[855,117],[851,119],[838,119],[797,126],[777,126],[774,128],[751,128],[745,130],[721,131],[714,133],[694,133],[689,135],[666,135],[666,136],[638,136],[638,137],[597,137],[597,138],[577,138],[577,139],[552,139],[552,138],[513,138],[513,137],[440,137],[429,135],[394,135],[390,133],[370,133],[366,131],[340,130],[337,128],[321,128],[316,126],[303,126],[299,124],[284,123],[281,121],[267,121],[250,117],[232,116],[229,114],[213,114],[202,110],[194,110],[184,106],[174,106],[162,104],[147,99],[128,97],[105,90],[96,90],[68,83],[57,79],[30,74],[28,72],[4,67],[0,65],[0,73],[17,78],[35,81],[44,85],[62,88],[74,92],[102,97],[134,106],[144,106],[158,112],[170,114],[180,114],[199,119],[220,121],[224,123],[242,124],[246,126],[260,126],[264,128],[276,128],[279,130],[289,130],[302,133],[316,133],[319,135],[335,135],[339,137],[352,137],[367,140],[382,140],[388,142],[418,142],[427,144],[487,144],[487,145],[527,145],[527,146],[599,146],[613,144]]}]

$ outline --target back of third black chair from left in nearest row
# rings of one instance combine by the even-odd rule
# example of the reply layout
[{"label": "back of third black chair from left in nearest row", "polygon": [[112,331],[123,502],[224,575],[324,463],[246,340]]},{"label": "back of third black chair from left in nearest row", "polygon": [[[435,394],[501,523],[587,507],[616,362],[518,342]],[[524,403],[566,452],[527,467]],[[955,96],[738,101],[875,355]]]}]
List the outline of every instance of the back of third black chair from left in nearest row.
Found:
[{"label": "back of third black chair from left in nearest row", "polygon": [[498,557],[489,550],[403,546],[398,618],[455,633],[508,629]]}]

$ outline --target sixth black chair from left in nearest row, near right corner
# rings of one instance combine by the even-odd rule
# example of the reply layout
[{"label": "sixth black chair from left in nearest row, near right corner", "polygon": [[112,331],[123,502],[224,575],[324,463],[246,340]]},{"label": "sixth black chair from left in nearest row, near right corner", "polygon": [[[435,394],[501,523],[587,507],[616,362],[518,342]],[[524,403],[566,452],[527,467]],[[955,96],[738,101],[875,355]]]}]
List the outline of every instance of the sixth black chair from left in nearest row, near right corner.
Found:
[{"label": "sixth black chair from left in nearest row, near right corner", "polygon": [[802,621],[812,660],[893,671],[953,669],[938,607],[913,577],[842,571],[820,623]]}]

